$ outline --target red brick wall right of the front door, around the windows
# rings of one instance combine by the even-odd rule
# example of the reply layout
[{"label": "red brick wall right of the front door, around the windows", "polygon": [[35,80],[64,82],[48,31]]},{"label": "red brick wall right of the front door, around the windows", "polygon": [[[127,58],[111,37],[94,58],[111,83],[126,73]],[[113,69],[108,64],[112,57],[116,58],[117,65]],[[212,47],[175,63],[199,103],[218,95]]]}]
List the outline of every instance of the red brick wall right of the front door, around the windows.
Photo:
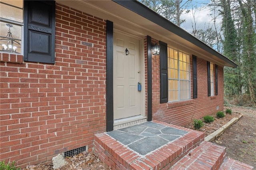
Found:
[{"label": "red brick wall right of the front door, around the windows", "polygon": [[[152,38],[152,44],[157,41]],[[145,43],[146,44],[146,43]],[[146,46],[145,46],[146,48]],[[145,50],[146,51],[146,50]],[[146,53],[146,52],[145,52]],[[147,54],[145,54],[147,58]],[[146,60],[146,59],[145,59]],[[185,125],[193,119],[204,115],[215,114],[224,109],[224,79],[223,67],[218,66],[218,95],[208,97],[207,93],[207,61],[197,57],[198,98],[192,99],[192,57],[190,57],[191,99],[181,102],[160,104],[160,57],[152,55],[152,120]],[[215,77],[215,68],[214,68]],[[215,84],[215,79],[214,79]],[[215,87],[214,87],[215,94]],[[146,98],[147,101],[147,98]],[[217,110],[216,107],[219,107]]]}]

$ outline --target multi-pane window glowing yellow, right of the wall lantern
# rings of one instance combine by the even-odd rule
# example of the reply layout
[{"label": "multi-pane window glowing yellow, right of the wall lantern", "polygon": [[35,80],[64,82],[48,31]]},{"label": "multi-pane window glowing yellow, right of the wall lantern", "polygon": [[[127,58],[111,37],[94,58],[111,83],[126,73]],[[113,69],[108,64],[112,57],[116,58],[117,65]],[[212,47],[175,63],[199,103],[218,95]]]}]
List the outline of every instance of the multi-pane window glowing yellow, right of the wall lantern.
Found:
[{"label": "multi-pane window glowing yellow, right of the wall lantern", "polygon": [[190,55],[167,48],[168,101],[190,99]]}]

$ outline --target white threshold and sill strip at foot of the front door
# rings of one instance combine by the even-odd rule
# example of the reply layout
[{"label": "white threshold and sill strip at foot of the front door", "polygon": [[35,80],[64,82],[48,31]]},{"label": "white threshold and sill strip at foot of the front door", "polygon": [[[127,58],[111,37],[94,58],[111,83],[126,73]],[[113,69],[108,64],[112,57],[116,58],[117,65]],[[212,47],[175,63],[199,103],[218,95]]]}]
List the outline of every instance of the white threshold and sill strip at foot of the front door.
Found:
[{"label": "white threshold and sill strip at foot of the front door", "polygon": [[146,121],[147,121],[147,117],[141,116],[141,115],[114,120],[114,130],[117,130],[120,128],[125,128],[125,127],[130,127],[133,125],[144,123]]}]

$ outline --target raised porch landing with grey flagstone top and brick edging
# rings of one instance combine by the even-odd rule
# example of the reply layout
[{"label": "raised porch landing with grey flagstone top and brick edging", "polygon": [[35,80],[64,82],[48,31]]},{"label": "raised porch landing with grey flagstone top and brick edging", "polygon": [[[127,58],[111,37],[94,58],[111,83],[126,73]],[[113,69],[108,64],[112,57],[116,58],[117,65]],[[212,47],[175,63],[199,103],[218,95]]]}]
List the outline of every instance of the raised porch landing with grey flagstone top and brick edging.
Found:
[{"label": "raised porch landing with grey flagstone top and brick edging", "polygon": [[169,169],[204,140],[204,133],[153,121],[94,139],[94,152],[112,169]]}]

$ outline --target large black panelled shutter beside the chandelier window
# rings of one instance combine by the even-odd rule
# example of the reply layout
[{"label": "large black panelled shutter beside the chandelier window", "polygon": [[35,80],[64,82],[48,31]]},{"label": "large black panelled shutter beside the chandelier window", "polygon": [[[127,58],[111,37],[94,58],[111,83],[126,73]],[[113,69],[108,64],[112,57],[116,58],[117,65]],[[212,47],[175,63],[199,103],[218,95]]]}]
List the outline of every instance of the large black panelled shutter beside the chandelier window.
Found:
[{"label": "large black panelled shutter beside the chandelier window", "polygon": [[24,1],[24,61],[55,62],[55,1]]}]

